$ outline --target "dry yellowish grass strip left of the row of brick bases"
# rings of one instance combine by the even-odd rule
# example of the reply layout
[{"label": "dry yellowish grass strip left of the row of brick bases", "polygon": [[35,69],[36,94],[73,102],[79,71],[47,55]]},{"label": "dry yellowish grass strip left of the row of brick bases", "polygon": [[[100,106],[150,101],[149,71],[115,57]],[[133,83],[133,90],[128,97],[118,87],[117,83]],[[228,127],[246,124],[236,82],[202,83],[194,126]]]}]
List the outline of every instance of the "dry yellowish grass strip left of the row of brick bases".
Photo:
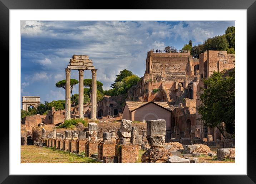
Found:
[{"label": "dry yellowish grass strip left of the row of brick bases", "polygon": [[97,163],[88,157],[35,145],[21,146],[21,163]]}]

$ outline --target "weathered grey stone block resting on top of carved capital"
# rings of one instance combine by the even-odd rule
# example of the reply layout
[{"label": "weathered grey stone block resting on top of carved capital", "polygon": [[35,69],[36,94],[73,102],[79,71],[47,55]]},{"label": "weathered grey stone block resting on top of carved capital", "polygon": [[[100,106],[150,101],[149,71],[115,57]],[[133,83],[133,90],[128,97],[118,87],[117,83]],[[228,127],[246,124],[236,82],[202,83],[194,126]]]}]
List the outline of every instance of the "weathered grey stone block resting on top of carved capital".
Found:
[{"label": "weathered grey stone block resting on top of carved capital", "polygon": [[147,121],[147,136],[165,136],[166,122],[164,119]]}]

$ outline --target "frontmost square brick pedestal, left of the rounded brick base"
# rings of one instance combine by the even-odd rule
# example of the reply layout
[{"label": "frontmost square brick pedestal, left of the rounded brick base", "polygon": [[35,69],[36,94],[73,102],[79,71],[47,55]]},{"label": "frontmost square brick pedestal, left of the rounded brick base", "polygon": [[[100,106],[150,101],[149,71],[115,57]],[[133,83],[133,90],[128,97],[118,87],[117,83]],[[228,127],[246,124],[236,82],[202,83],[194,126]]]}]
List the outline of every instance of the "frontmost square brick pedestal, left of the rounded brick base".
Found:
[{"label": "frontmost square brick pedestal, left of the rounded brick base", "polygon": [[118,157],[118,163],[136,163],[139,159],[139,145],[118,144],[115,146],[115,156]]}]

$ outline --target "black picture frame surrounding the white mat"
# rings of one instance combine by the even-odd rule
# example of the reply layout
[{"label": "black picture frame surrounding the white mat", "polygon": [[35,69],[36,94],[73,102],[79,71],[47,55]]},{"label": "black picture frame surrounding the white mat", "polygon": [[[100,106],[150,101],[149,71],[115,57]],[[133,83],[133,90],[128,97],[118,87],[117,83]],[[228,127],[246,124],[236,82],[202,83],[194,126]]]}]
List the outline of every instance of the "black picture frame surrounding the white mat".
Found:
[{"label": "black picture frame surrounding the white mat", "polygon": [[[247,10],[247,56],[252,59],[255,55],[254,45],[256,40],[256,0],[161,0],[161,1],[82,1],[82,0],[0,0],[0,46],[4,53],[4,60],[9,61],[9,10],[11,9],[246,9]],[[245,63],[247,61],[244,61]],[[9,68],[9,66],[7,66]],[[10,70],[10,68],[9,68]],[[248,72],[249,73],[249,72]],[[248,83],[247,83],[248,84]],[[10,98],[10,96],[9,96]],[[243,99],[246,100],[247,99]],[[244,107],[247,108],[247,107]],[[252,111],[252,109],[250,110]],[[250,112],[249,111],[249,112]],[[10,116],[11,111],[9,112]],[[248,113],[248,112],[247,112]],[[250,113],[249,113],[250,114]],[[10,122],[9,122],[10,123]],[[245,122],[247,123],[247,117]],[[181,183],[255,183],[255,121],[247,123],[247,175],[208,175],[208,176],[171,176],[169,182]],[[17,123],[19,126],[19,123]],[[51,183],[54,176],[12,176],[9,175],[9,125],[3,124],[0,141],[0,182],[3,183]],[[200,170],[198,171],[200,173]],[[124,173],[125,174],[125,173]],[[77,182],[79,178],[75,176]],[[175,177],[175,178],[174,178]],[[69,176],[59,176],[56,182],[67,182]],[[108,180],[108,177],[104,177]],[[143,181],[150,181],[152,177],[143,177]],[[177,180],[178,179],[178,180]],[[91,180],[91,181],[90,181]],[[115,179],[119,182],[118,178]],[[124,176],[122,180],[131,183],[131,178]],[[130,182],[129,182],[130,181]],[[88,178],[86,182],[95,183],[95,178]],[[107,182],[107,181],[105,181]],[[104,182],[104,183],[105,183]],[[109,180],[113,183],[113,180]]]}]

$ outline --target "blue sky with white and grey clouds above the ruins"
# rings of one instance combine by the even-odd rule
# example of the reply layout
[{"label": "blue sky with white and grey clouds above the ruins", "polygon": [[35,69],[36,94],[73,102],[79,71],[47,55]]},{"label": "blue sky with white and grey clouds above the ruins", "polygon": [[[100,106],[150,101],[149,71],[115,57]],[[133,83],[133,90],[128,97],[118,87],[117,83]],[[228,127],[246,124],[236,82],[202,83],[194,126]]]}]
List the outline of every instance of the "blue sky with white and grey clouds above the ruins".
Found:
[{"label": "blue sky with white and grey clouds above the ruins", "polygon": [[[225,34],[235,21],[21,21],[21,96],[40,96],[41,103],[65,99],[55,83],[65,79],[73,55],[89,55],[97,80],[108,90],[121,70],[142,77],[147,51],[192,40],[202,44]],[[71,71],[78,80],[78,71]],[[84,78],[91,78],[85,71]],[[78,85],[73,94],[78,93]]]}]

